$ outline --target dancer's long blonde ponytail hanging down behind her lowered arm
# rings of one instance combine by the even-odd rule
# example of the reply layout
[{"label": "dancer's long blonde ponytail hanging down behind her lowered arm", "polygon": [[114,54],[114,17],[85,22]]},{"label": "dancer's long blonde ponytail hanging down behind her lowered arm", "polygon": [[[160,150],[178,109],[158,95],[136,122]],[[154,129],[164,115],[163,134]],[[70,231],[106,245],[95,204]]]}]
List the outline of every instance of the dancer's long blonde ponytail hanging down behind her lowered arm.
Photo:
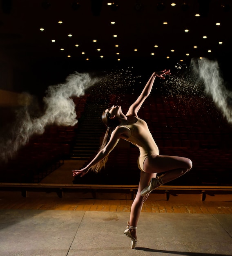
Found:
[{"label": "dancer's long blonde ponytail hanging down behind her lowered arm", "polygon": [[[110,136],[111,136],[111,133],[112,131],[116,128],[116,126],[118,125],[118,120],[117,119],[110,119],[111,117],[111,114],[107,111],[103,111],[103,114],[102,114],[102,121],[103,121],[103,124],[105,124],[105,126],[107,126],[107,130],[105,132],[105,136],[103,138],[103,142],[98,150],[98,152],[100,150],[102,150],[103,148],[105,148],[106,144],[108,143],[109,139],[110,139]],[[95,173],[98,173],[100,172],[100,170],[102,168],[105,168],[105,164],[108,160],[108,155],[103,158],[100,162],[98,162],[97,164],[94,164],[94,166],[91,166],[89,168],[89,170],[95,172]]]}]

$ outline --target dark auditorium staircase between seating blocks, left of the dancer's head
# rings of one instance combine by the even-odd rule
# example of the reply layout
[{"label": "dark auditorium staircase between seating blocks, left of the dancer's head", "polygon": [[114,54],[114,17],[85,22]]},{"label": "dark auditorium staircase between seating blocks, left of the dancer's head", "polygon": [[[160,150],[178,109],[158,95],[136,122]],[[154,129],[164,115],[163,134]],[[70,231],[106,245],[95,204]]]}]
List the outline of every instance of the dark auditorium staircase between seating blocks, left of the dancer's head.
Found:
[{"label": "dark auditorium staircase between seating blocks, left of the dancer's head", "polygon": [[88,160],[100,147],[100,138],[104,135],[101,112],[105,106],[87,102],[85,112],[79,120],[76,140],[71,151],[71,159]]}]

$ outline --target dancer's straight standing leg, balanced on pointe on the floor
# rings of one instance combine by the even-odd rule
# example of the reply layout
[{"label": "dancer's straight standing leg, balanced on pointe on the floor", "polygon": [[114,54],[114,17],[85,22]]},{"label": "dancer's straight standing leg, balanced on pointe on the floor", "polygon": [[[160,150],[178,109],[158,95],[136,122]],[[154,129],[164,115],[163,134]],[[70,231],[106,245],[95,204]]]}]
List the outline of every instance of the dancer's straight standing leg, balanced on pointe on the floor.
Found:
[{"label": "dancer's straight standing leg, balanced on pointe on the floor", "polygon": [[[145,186],[147,186],[151,180],[151,178],[156,177],[156,173],[145,173],[141,171],[141,177],[138,185],[138,192],[136,194],[136,197],[132,203],[131,211],[130,211],[130,225],[133,227],[137,227],[138,224],[138,218],[140,216],[143,203],[147,200],[148,195],[141,196],[141,191]],[[136,229],[130,229],[130,232],[132,236],[137,239],[136,236]]]}]

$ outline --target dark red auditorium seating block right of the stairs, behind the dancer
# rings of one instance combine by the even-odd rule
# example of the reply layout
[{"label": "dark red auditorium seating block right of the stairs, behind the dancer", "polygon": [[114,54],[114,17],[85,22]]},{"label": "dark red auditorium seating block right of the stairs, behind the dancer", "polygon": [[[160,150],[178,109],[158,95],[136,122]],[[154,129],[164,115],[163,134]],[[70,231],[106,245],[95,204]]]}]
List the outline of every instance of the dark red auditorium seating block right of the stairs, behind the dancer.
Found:
[{"label": "dark red auditorium seating block right of the stairs, behind the dancer", "polygon": [[[114,104],[114,97],[110,100],[110,105]],[[123,97],[123,102],[134,100],[133,95]],[[210,98],[199,95],[148,97],[138,116],[147,121],[161,155],[192,159],[192,170],[170,184],[232,186],[229,178],[232,171],[232,127]],[[124,173],[132,180],[134,173],[138,172],[138,149],[129,147],[126,150],[125,153],[114,149],[106,169],[109,173]],[[112,164],[114,159],[118,161]],[[132,161],[128,168],[127,162]],[[125,184],[124,180],[122,182]]]}]

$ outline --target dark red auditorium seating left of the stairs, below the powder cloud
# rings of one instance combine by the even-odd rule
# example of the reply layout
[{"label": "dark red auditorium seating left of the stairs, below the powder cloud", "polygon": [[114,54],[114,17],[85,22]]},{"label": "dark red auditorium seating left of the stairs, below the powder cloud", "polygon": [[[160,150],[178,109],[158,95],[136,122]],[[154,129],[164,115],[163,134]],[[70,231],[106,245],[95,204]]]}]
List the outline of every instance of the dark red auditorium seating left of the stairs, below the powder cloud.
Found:
[{"label": "dark red auditorium seating left of the stairs, below the powder cloud", "polygon": [[[85,110],[88,95],[74,97],[77,119]],[[41,135],[34,134],[13,159],[0,163],[0,182],[38,183],[69,159],[78,123],[75,126],[47,125]]]}]

